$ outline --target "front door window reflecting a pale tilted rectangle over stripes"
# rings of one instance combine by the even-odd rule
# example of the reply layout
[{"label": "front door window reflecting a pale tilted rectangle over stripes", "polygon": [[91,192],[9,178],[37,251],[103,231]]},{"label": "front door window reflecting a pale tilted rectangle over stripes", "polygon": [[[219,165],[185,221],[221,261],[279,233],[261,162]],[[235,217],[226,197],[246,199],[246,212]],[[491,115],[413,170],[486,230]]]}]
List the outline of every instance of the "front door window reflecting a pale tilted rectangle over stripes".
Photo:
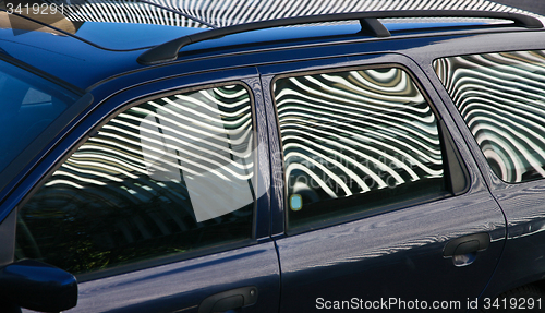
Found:
[{"label": "front door window reflecting a pale tilted rectangle over stripes", "polygon": [[16,257],[77,274],[252,238],[253,130],[239,84],[117,113],[20,208]]}]

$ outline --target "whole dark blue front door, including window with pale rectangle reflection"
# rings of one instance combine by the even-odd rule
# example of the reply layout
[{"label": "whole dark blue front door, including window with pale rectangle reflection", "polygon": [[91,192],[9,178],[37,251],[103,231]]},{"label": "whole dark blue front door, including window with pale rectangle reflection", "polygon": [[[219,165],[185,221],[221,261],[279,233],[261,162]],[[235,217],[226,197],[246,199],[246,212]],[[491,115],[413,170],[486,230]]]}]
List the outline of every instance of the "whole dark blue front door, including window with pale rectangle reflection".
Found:
[{"label": "whole dark blue front door, including window with pale rectangle reflection", "polygon": [[74,274],[70,312],[278,312],[256,82],[185,75],[104,101],[4,202],[12,258]]}]

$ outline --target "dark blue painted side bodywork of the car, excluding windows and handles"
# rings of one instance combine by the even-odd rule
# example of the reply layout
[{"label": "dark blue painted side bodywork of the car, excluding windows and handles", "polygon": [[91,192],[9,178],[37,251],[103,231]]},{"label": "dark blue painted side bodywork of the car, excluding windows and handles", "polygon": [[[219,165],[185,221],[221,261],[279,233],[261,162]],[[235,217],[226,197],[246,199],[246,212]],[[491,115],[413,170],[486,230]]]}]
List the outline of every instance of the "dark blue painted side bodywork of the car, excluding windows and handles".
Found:
[{"label": "dark blue painted side bodywork of the car, excluding windows and handles", "polygon": [[[156,94],[157,91],[244,81],[253,88],[255,97],[257,137],[266,144],[265,152],[259,156],[262,164],[258,165],[263,178],[259,188],[265,192],[258,200],[255,241],[250,246],[238,246],[206,256],[173,260],[160,265],[137,265],[122,273],[98,274],[80,284],[80,305],[76,310],[148,312],[154,308],[154,311],[186,309],[187,312],[196,312],[199,301],[206,297],[250,285],[258,287],[259,300],[255,306],[249,306],[243,312],[311,311],[315,308],[317,297],[327,300],[390,296],[465,300],[467,297],[479,297],[487,285],[491,287],[484,294],[495,296],[520,284],[534,281],[545,273],[545,264],[542,263],[545,246],[538,243],[545,225],[542,221],[545,216],[543,181],[513,186],[494,177],[435,75],[432,63],[444,56],[540,48],[542,44],[537,39],[545,39],[544,36],[537,32],[524,32],[367,41],[350,38],[342,45],[264,49],[253,53],[217,57],[205,51],[203,56],[194,55],[189,60],[131,72],[90,88],[96,97],[94,109],[71,124],[71,132],[66,129],[57,139],[58,145],[43,157],[33,171],[27,168],[27,177],[22,173],[17,178],[22,181],[13,186],[11,194],[5,194],[0,213],[7,216],[12,212],[75,143],[83,140],[105,117],[135,98]],[[75,39],[63,37],[62,40]],[[19,44],[7,44],[5,47],[12,47],[13,52],[13,45]],[[45,40],[43,45],[52,48],[52,44]],[[86,44],[72,46],[82,50],[88,48],[80,45]],[[407,58],[388,53],[392,51]],[[386,55],[373,56],[373,52]],[[59,57],[59,52],[55,53],[66,60],[66,57]],[[93,57],[88,51],[85,53],[94,61],[73,61],[76,69],[73,72],[98,64],[99,56]],[[65,80],[74,79],[78,86],[88,87],[117,71],[140,69],[140,65],[132,63],[138,53],[123,53],[123,57],[116,59],[114,56],[121,55],[100,52],[100,56],[112,56],[102,61],[114,65],[92,77],[76,77],[78,75],[68,70],[70,67],[63,70],[55,70],[47,64],[40,67]],[[31,52],[21,56],[23,60],[31,60]],[[48,57],[50,52],[46,51],[44,56]],[[275,168],[281,168],[281,159],[275,157],[281,149],[270,93],[272,79],[278,74],[377,63],[403,64],[414,73],[448,125],[468,167],[471,178],[469,192],[287,236],[283,177],[281,172],[275,171]],[[240,69],[241,65],[250,67]],[[493,194],[488,189],[493,190]],[[498,202],[504,208],[508,228]],[[450,240],[480,232],[489,233],[492,242],[486,251],[477,252],[472,264],[457,267],[452,258],[443,256],[443,250]],[[0,248],[0,253],[10,252]],[[493,276],[500,256],[502,260]],[[491,277],[492,282],[488,284]]]}]

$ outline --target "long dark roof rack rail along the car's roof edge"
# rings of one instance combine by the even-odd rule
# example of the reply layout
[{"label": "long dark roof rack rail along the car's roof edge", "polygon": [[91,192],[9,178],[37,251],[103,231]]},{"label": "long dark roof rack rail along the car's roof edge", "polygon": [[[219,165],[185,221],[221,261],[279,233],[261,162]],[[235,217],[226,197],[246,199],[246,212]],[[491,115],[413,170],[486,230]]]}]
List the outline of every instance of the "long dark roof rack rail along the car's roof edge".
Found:
[{"label": "long dark roof rack rail along the car's roof edge", "polygon": [[178,58],[178,52],[181,48],[209,39],[219,38],[227,35],[281,27],[291,25],[301,25],[310,23],[325,23],[337,21],[359,20],[362,25],[363,33],[371,33],[376,37],[389,37],[390,32],[377,19],[403,19],[403,17],[477,17],[477,19],[498,19],[514,22],[514,25],[526,28],[543,28],[540,20],[511,12],[489,12],[489,11],[471,11],[471,10],[407,10],[407,11],[371,11],[371,12],[350,12],[335,13],[324,15],[296,16],[278,20],[252,22],[246,24],[227,26],[222,28],[210,29],[206,32],[187,35],[158,45],[144,53],[137,61],[141,64],[149,65],[173,61]]}]

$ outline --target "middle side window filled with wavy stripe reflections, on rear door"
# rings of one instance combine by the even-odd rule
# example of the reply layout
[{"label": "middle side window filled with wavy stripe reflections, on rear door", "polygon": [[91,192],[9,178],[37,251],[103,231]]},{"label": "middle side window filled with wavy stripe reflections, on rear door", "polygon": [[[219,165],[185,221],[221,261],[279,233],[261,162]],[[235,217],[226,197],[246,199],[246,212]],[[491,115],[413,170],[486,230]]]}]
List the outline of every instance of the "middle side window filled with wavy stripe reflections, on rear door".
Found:
[{"label": "middle side window filled with wavy stripe reflections, on rear door", "polygon": [[288,228],[444,195],[437,119],[399,68],[278,79]]}]

